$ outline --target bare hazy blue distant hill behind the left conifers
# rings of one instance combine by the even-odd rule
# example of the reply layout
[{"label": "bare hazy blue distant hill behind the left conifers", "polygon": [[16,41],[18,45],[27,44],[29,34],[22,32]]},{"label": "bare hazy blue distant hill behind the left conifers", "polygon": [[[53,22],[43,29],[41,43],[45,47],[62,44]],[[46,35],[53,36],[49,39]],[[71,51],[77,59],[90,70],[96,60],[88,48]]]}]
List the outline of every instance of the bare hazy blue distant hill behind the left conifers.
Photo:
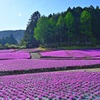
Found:
[{"label": "bare hazy blue distant hill behind the left conifers", "polygon": [[0,31],[0,39],[2,39],[3,37],[6,38],[12,34],[14,36],[14,38],[17,40],[17,42],[20,43],[20,41],[24,37],[24,32],[25,32],[25,30]]}]

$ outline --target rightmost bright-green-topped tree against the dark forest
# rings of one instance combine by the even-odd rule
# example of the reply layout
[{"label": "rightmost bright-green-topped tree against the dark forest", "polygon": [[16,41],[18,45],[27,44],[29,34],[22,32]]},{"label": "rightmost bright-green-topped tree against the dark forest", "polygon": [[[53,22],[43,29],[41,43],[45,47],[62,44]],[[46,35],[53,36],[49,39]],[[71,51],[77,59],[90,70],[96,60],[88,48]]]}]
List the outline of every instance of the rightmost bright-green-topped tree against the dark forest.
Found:
[{"label": "rightmost bright-green-topped tree against the dark forest", "polygon": [[80,16],[80,33],[84,44],[92,44],[92,41],[94,41],[91,19],[91,14],[84,10]]}]

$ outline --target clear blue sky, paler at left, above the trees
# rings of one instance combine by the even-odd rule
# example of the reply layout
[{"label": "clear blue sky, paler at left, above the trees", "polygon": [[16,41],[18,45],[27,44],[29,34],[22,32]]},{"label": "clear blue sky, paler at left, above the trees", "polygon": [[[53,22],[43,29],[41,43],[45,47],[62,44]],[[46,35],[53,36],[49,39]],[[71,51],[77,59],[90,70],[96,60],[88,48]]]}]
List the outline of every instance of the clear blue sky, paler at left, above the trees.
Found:
[{"label": "clear blue sky, paler at left, above the trees", "polygon": [[26,29],[30,16],[39,11],[48,16],[64,12],[68,7],[89,7],[100,0],[0,0],[0,31]]}]

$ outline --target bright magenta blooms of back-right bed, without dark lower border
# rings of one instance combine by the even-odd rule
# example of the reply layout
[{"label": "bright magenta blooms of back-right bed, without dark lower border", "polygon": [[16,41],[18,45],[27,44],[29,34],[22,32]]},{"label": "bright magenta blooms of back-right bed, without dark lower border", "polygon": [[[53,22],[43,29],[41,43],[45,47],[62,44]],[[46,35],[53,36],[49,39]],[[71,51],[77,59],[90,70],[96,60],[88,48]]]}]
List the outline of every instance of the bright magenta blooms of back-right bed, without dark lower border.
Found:
[{"label": "bright magenta blooms of back-right bed, without dark lower border", "polygon": [[41,52],[41,56],[48,57],[100,57],[100,50],[57,50]]}]

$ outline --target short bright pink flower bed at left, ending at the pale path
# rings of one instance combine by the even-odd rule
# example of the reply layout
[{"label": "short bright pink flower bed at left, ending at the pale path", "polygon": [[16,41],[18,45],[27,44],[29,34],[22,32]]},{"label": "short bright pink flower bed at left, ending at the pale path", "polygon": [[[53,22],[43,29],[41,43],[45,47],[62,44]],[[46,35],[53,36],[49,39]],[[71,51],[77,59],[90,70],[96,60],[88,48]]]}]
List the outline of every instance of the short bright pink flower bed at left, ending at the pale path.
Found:
[{"label": "short bright pink flower bed at left, ending at the pale path", "polygon": [[4,59],[29,59],[30,54],[26,52],[2,52],[0,53],[0,60]]}]

